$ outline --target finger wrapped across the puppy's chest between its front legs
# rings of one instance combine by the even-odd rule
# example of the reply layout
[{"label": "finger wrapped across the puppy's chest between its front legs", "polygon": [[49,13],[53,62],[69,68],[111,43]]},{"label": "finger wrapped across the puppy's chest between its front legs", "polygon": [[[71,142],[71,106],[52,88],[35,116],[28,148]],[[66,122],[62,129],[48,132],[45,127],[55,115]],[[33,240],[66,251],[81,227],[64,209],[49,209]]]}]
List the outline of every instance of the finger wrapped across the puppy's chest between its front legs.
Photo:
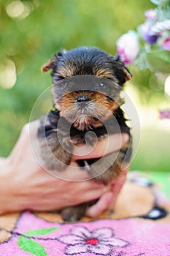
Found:
[{"label": "finger wrapped across the puppy's chest between its front legs", "polygon": [[127,133],[109,135],[104,140],[98,140],[95,146],[89,144],[74,146],[73,159],[90,159],[102,157],[105,154],[117,151],[129,140]]}]

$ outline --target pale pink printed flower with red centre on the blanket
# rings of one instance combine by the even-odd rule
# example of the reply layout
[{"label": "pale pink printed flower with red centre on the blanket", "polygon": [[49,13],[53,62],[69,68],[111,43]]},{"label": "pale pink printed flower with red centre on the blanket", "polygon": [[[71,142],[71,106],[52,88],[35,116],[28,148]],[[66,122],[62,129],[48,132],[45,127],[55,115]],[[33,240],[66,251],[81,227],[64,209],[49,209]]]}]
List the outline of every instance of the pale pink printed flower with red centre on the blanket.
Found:
[{"label": "pale pink printed flower with red centre on the blanket", "polygon": [[109,227],[98,228],[90,232],[85,227],[73,227],[70,235],[58,238],[63,244],[67,244],[66,255],[76,255],[90,252],[96,255],[109,255],[112,246],[128,246],[127,241],[115,238],[113,230]]}]

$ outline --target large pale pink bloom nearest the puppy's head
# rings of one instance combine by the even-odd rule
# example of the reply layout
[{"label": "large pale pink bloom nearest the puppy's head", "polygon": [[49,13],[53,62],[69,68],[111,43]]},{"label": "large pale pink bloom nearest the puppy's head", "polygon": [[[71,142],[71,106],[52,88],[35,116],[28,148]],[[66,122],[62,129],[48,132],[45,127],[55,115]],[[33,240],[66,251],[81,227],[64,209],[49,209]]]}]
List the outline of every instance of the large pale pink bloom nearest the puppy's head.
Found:
[{"label": "large pale pink bloom nearest the puppy's head", "polygon": [[116,42],[117,54],[125,64],[130,64],[139,53],[139,42],[134,31],[123,34]]}]

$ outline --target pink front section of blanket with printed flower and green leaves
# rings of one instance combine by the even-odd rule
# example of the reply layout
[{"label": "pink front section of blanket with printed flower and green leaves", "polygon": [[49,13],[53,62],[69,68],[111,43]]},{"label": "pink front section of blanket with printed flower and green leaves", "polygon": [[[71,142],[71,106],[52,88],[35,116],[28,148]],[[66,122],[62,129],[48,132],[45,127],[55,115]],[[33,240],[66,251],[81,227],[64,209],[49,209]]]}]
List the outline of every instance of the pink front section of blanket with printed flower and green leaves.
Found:
[{"label": "pink front section of blanket with printed flower and green leaves", "polygon": [[0,255],[167,256],[169,238],[170,222],[129,218],[60,224],[24,212],[12,237],[0,244]]}]

